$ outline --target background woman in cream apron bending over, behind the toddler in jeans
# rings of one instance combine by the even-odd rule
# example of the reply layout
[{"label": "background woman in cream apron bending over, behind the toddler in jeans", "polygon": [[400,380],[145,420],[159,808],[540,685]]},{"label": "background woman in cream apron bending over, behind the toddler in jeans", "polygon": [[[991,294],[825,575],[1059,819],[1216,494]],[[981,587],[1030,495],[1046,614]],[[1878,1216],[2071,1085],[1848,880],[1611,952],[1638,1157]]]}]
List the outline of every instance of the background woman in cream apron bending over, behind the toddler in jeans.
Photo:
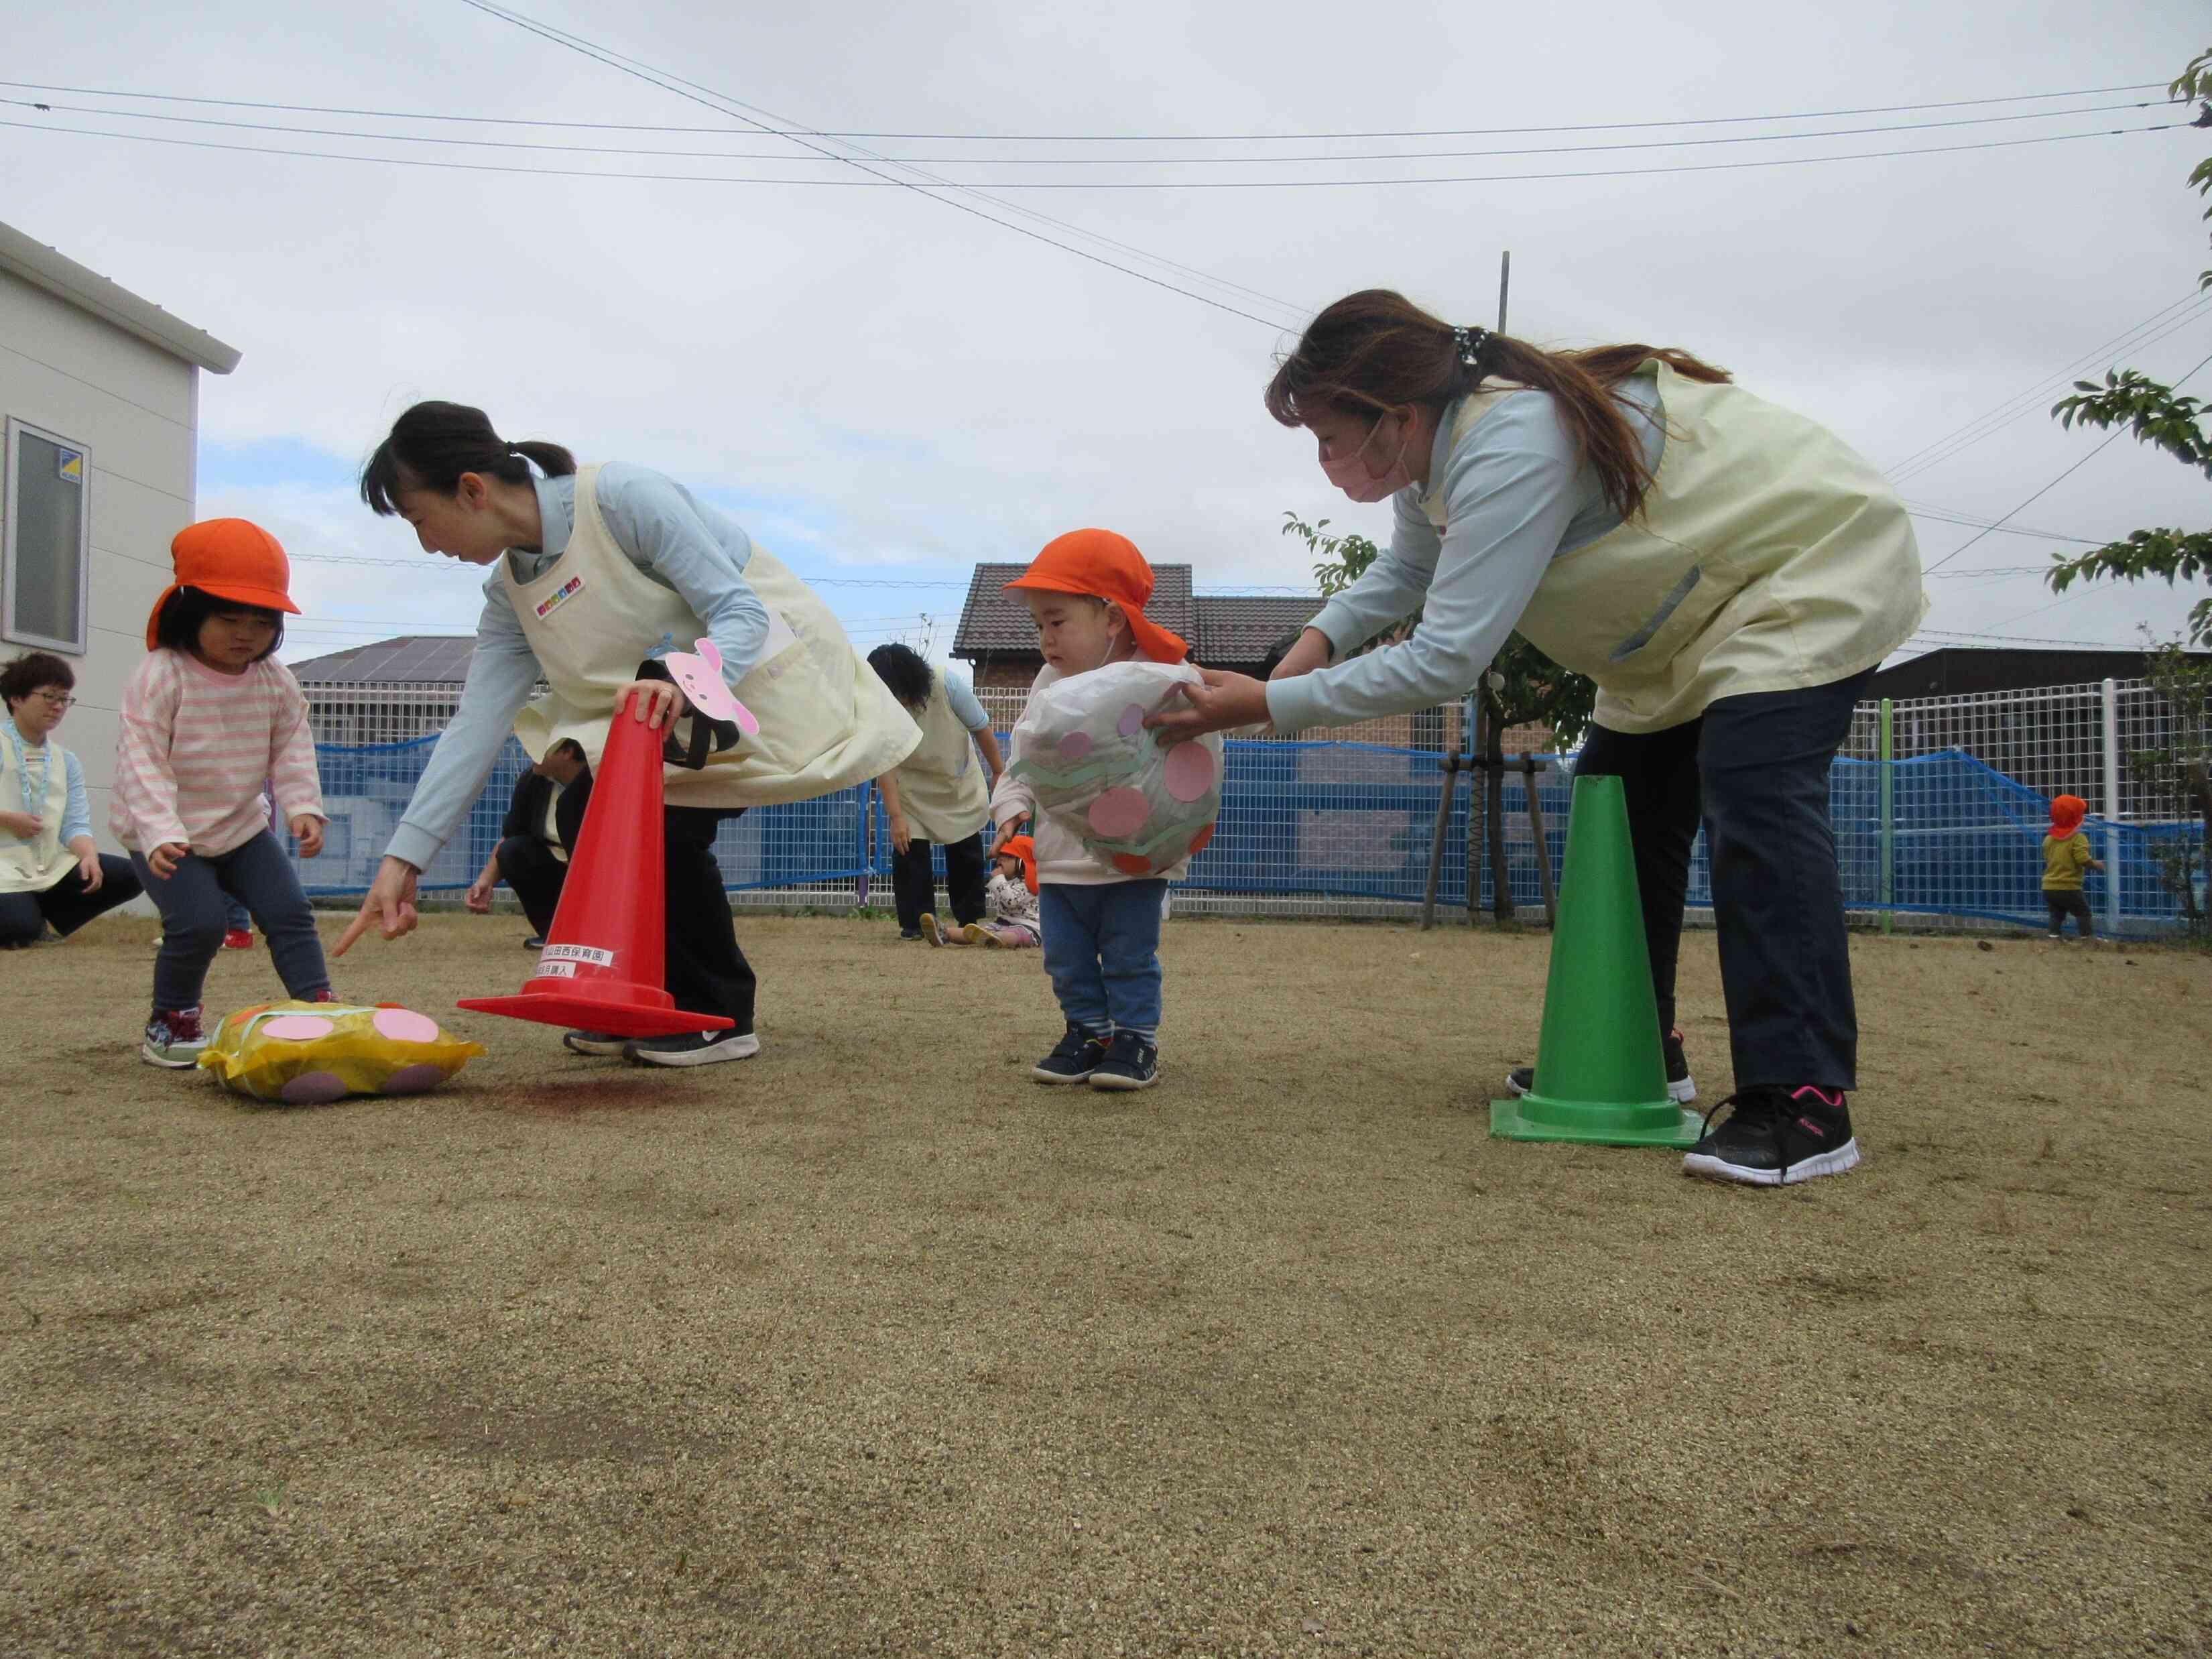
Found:
[{"label": "background woman in cream apron bending over, behind the toddler in jeans", "polygon": [[[922,728],[922,741],[896,772],[876,779],[891,825],[891,900],[898,907],[898,938],[945,945],[938,927],[938,883],[929,869],[929,847],[945,847],[945,894],[953,922],[964,929],[982,920],[982,827],[991,818],[991,792],[1006,770],[998,732],[975,701],[975,692],[931,668],[914,646],[876,646],[867,666],[889,688],[898,706]],[[982,750],[984,765],[975,765]],[[984,768],[991,776],[984,776]],[[962,942],[962,933],[951,933]]]}]

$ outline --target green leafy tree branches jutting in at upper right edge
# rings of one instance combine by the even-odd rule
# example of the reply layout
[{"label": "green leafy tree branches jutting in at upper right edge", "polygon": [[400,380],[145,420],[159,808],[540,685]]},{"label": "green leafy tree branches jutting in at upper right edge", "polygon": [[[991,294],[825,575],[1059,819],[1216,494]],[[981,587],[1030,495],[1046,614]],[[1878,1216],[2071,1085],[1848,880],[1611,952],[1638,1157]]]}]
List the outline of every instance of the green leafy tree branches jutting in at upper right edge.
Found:
[{"label": "green leafy tree branches jutting in at upper right edge", "polygon": [[[2181,77],[2168,88],[2177,100],[2212,97],[2212,51],[2199,53]],[[2205,104],[2212,113],[2212,104]],[[2212,124],[2212,122],[2203,122]],[[2197,164],[2190,186],[2201,197],[2212,197],[2212,157]],[[2205,208],[2212,219],[2212,208]],[[2201,272],[2199,288],[2212,288],[2212,270]],[[2212,442],[2201,425],[2203,407],[2197,398],[2177,396],[2172,387],[2152,380],[2135,369],[2106,372],[2104,385],[2075,380],[2073,396],[2059,398],[2051,414],[2068,429],[2084,427],[2128,427],[2137,442],[2157,445],[2174,460],[2194,467],[2212,478]],[[2168,584],[2194,582],[2212,571],[2212,533],[2152,529],[2135,531],[2126,540],[2106,542],[2079,555],[2053,555],[2051,573],[2044,577],[2053,593],[2066,593],[2075,582],[2097,577],[2121,577],[2141,582],[2166,577]],[[2199,599],[2188,619],[2194,644],[2212,644],[2212,599]]]}]

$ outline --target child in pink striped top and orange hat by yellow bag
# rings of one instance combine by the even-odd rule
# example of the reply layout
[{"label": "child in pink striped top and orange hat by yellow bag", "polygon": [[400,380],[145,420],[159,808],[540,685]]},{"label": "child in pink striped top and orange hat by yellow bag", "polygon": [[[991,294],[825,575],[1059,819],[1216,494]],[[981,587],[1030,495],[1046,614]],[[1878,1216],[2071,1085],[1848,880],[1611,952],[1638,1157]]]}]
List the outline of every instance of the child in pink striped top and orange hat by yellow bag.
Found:
[{"label": "child in pink striped top and orange hat by yellow bag", "polygon": [[261,799],[268,783],[303,856],[323,849],[307,697],[274,657],[283,615],[299,615],[292,562],[243,518],[186,524],[170,557],[177,580],[155,602],[148,657],[124,686],[108,830],[161,911],[139,1055],[181,1068],[208,1046],[199,993],[232,900],[261,925],[292,998],[330,1002],[330,969]]}]

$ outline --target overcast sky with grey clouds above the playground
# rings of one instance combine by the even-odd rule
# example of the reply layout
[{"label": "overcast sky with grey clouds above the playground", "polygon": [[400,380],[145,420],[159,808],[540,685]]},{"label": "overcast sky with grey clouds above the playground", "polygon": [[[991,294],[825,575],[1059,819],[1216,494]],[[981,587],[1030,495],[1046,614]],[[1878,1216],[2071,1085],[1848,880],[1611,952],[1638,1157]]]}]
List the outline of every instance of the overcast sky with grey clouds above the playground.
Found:
[{"label": "overcast sky with grey clouds above the playground", "polygon": [[[878,188],[748,131],[728,102],[686,100],[465,0],[285,11],[212,0],[190,9],[190,27],[175,9],[108,0],[18,9],[0,69],[13,80],[546,124],[0,88],[55,104],[0,108],[7,122],[387,157],[0,126],[0,219],[243,352],[237,374],[204,378],[199,507],[261,520],[299,555],[294,597],[307,615],[294,659],[387,633],[467,630],[476,617],[478,577],[422,557],[405,526],[354,495],[361,458],[416,398],[478,403],[509,438],[675,473],[823,580],[863,650],[918,639],[927,613],[942,653],[975,560],[1026,560],[1079,524],[1124,531],[1155,562],[1190,562],[1201,591],[1301,586],[1303,549],[1276,533],[1285,509],[1383,535],[1387,507],[1345,502],[1312,442],[1265,416],[1259,389],[1274,354],[1354,288],[1400,288],[1453,321],[1489,323],[1506,248],[1515,334],[1699,352],[1832,425],[1916,507],[1980,520],[2020,509],[2015,524],[2093,540],[2205,524],[2205,482],[2128,438],[2022,502],[2101,440],[2044,416],[2055,392],[2026,394],[2057,385],[2077,358],[2172,378],[2212,354],[2212,299],[2190,301],[2212,252],[2185,184],[2212,133],[2013,144],[2185,122],[2190,111],[2166,104],[2106,108],[2161,91],[1966,104],[2163,88],[2212,35],[2199,4],[2104,7],[2095,27],[2079,4],[1995,0],[1520,15],[1400,0],[518,9],[743,100],[770,124],[945,135],[865,144],[991,190],[1365,184],[998,190],[951,195],[971,208],[958,210]],[[1874,106],[1920,108],[1719,119]],[[126,108],[135,115],[115,113]],[[2086,108],[2097,113],[2044,115]],[[2035,119],[1991,119],[2022,115]],[[1913,131],[1772,137],[1869,126]],[[1455,135],[1221,137],[1343,133]],[[1610,148],[1498,155],[1546,146]],[[1486,155],[1436,155],[1447,150]],[[1400,159],[1188,164],[1194,155]],[[1646,173],[1533,177],[1621,170]],[[2139,349],[2097,356],[2152,319]],[[2212,394],[2212,367],[2188,389]],[[2004,407],[2024,414],[1936,465],[1902,465]],[[1929,564],[1971,535],[1920,522]],[[1944,571],[2042,566],[2055,546],[2000,531]],[[2141,622],[2170,633],[2197,597],[2119,586],[2055,602],[2035,575],[1936,575],[1929,588],[1931,630],[2108,644],[2135,644]],[[1916,648],[1933,644],[1947,639],[1931,633]]]}]

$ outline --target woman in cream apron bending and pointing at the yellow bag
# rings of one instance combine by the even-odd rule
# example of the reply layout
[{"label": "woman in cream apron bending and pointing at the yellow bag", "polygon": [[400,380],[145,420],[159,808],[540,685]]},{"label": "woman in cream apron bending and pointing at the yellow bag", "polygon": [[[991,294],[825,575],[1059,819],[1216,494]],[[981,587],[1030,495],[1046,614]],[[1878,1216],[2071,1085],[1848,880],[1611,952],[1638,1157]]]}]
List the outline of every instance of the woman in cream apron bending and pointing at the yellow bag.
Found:
[{"label": "woman in cream apron bending and pointing at the yellow bag", "polygon": [[[535,471],[531,465],[535,462]],[[701,770],[666,770],[666,987],[679,1009],[730,1031],[624,1040],[571,1031],[577,1053],[703,1066],[761,1048],[757,980],[737,945],[714,832],[745,807],[805,801],[894,768],[918,741],[830,608],[730,518],[646,467],[577,469],[553,442],[507,442],[482,409],[418,403],[361,471],[361,498],[405,518],[425,553],[495,566],[453,721],[438,737],[361,914],[336,953],[376,927],[416,925],[416,878],[476,805],[507,743],[533,761],[562,741],[593,765],[624,695],[635,719],[688,708],[646,659],[712,639],[757,737]],[[551,688],[531,699],[544,677]]]}]

